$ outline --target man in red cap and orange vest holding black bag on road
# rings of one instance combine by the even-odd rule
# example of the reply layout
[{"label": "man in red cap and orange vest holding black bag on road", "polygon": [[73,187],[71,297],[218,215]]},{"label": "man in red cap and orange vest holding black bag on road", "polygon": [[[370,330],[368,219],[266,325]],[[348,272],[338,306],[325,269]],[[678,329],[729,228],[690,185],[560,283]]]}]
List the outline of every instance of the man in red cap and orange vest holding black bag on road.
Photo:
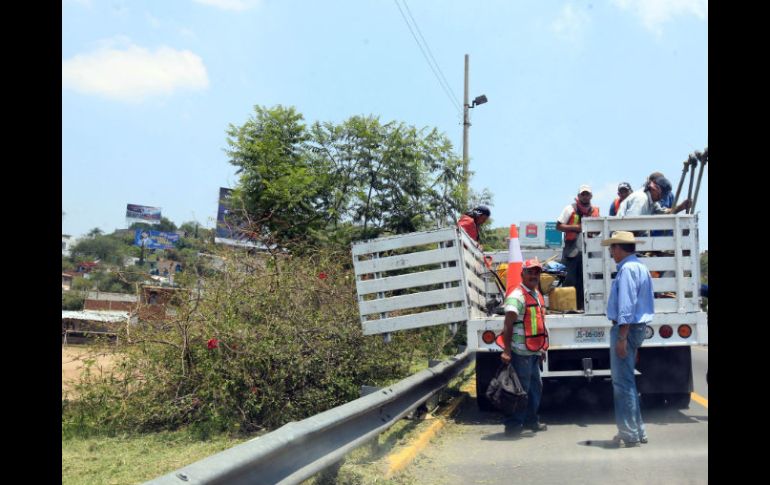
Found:
[{"label": "man in red cap and orange vest holding black bag on road", "polygon": [[545,301],[539,291],[542,271],[543,265],[537,258],[524,261],[521,284],[505,299],[503,353],[500,359],[513,365],[528,397],[526,409],[505,416],[506,436],[518,436],[524,428],[533,432],[548,429],[537,416],[543,394],[540,364],[548,350]]}]

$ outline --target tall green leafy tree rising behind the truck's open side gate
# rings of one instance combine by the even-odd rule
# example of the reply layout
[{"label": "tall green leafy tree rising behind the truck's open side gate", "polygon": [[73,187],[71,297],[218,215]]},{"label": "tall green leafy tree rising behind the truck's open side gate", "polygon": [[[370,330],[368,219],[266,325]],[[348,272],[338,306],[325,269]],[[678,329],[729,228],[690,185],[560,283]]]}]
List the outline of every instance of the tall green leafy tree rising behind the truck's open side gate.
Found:
[{"label": "tall green leafy tree rising behind the truck's open side gate", "polygon": [[354,116],[307,128],[294,108],[255,107],[228,131],[234,207],[281,244],[444,225],[459,211],[461,161],[437,130]]}]

